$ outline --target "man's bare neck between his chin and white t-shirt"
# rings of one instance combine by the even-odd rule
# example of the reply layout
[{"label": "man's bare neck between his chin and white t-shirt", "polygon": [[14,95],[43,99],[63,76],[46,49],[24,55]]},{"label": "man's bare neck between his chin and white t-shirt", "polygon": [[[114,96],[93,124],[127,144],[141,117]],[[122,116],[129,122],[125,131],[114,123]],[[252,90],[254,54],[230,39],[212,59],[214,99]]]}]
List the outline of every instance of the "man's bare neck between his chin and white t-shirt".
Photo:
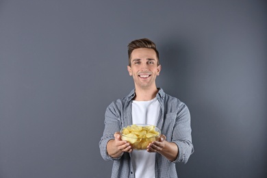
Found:
[{"label": "man's bare neck between his chin and white t-shirt", "polygon": [[136,101],[149,101],[151,99],[154,99],[157,95],[157,88],[136,88],[136,97],[134,97],[134,100]]}]

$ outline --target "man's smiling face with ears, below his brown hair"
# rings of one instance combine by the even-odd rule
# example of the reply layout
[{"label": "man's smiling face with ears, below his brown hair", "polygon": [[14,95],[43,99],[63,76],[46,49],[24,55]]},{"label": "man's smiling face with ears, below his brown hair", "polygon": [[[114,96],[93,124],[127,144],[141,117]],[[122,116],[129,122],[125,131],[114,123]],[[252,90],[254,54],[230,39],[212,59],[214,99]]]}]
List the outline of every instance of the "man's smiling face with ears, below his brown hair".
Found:
[{"label": "man's smiling face with ears, below his brown hair", "polygon": [[133,76],[136,87],[155,87],[155,79],[160,75],[161,66],[157,66],[157,55],[153,49],[134,49],[131,53],[131,66],[127,66]]}]

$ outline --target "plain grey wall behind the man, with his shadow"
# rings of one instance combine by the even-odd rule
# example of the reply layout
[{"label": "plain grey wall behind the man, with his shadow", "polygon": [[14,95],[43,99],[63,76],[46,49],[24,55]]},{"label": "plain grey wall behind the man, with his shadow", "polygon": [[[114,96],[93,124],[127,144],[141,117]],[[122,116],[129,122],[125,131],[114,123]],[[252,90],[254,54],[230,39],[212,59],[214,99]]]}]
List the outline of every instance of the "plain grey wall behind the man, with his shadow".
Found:
[{"label": "plain grey wall behind the man, with his shadow", "polygon": [[110,177],[105,108],[133,88],[127,44],[160,51],[186,103],[179,177],[267,176],[265,1],[0,1],[0,177]]}]

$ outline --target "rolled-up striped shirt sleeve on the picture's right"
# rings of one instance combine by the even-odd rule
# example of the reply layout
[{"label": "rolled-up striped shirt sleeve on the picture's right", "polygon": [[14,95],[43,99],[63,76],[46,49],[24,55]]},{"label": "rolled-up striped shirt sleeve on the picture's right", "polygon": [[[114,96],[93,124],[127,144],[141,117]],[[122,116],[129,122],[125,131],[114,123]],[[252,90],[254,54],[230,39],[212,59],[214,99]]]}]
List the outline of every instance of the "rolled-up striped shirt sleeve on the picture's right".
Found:
[{"label": "rolled-up striped shirt sleeve on the picture's right", "polygon": [[190,155],[194,152],[191,131],[190,112],[188,107],[184,103],[181,103],[179,105],[175,127],[173,129],[172,142],[175,142],[178,147],[178,156],[173,162],[182,162],[186,164]]}]

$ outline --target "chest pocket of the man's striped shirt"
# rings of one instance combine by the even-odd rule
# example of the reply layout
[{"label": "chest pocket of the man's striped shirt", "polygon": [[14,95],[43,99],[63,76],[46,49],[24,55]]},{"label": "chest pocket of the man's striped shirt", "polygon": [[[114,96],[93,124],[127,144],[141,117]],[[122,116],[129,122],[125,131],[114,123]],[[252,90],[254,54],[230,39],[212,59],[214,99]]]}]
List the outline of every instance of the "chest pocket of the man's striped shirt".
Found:
[{"label": "chest pocket of the man's striped shirt", "polygon": [[173,138],[173,129],[175,127],[176,112],[170,112],[164,116],[162,134],[166,136],[166,140],[170,141]]}]

